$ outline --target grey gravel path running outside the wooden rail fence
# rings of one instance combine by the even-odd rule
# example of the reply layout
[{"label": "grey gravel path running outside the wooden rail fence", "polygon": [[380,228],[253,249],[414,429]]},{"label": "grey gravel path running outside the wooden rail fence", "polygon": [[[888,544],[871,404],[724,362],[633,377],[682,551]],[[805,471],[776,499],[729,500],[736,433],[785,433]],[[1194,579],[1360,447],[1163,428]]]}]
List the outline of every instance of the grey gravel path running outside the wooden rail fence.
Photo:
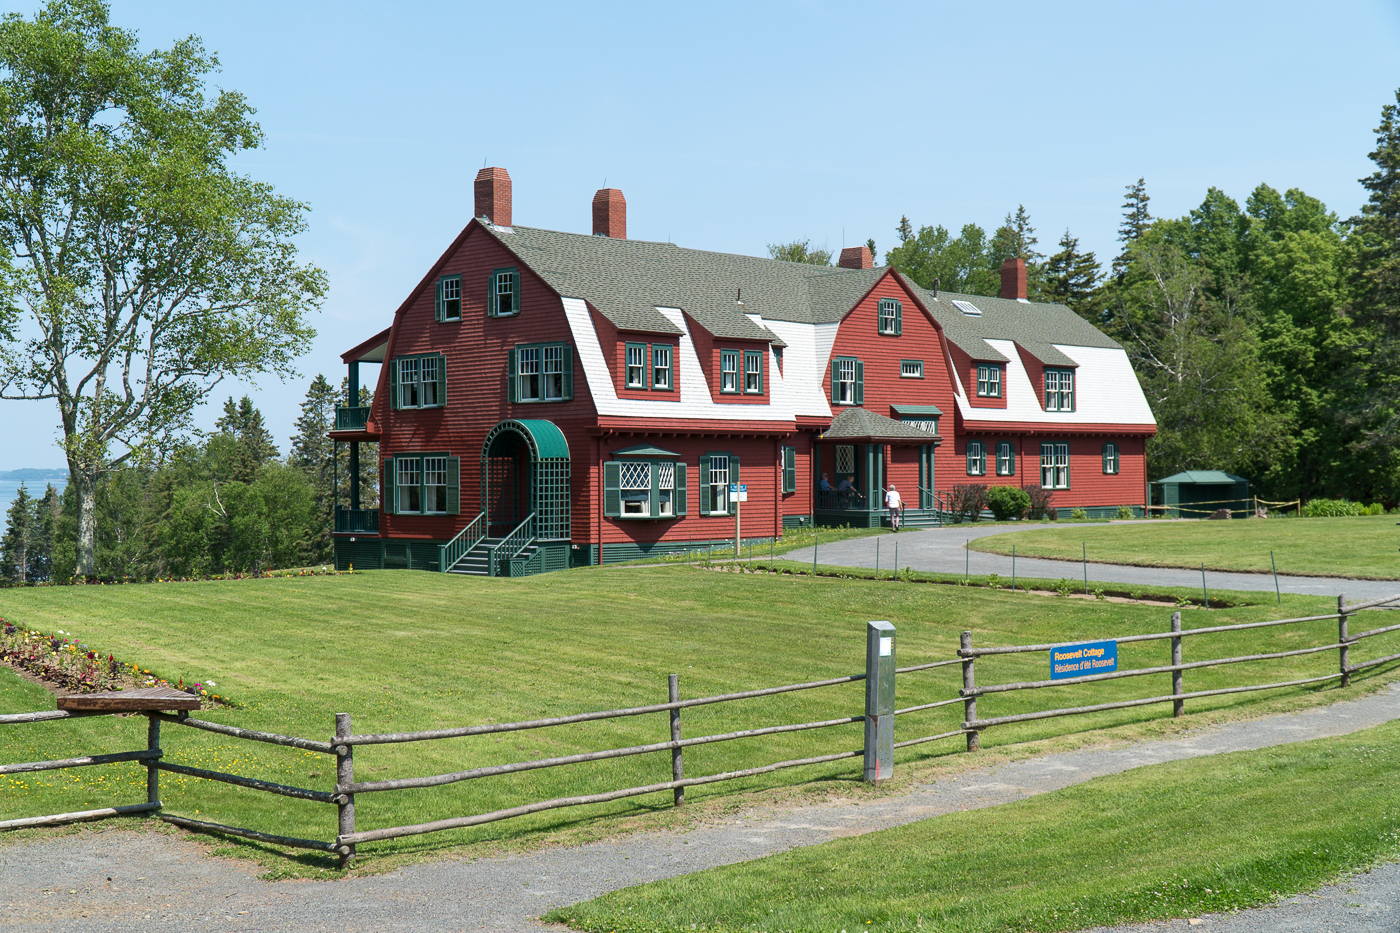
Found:
[{"label": "grey gravel path running outside the wooden rail fence", "polygon": [[[0,930],[127,933],[197,925],[307,933],[540,933],[546,927],[532,918],[549,908],[643,881],[994,807],[1144,765],[1345,735],[1393,719],[1400,719],[1400,684],[1358,700],[1169,741],[974,769],[888,800],[750,813],[687,832],[507,859],[444,860],[336,883],[259,881],[256,866],[206,857],[203,846],[179,836],[116,829],[52,836],[0,846]],[[1400,930],[1400,869],[1386,866],[1295,901],[1203,923],[1229,933]],[[1133,929],[1186,929],[1186,923]]]}]

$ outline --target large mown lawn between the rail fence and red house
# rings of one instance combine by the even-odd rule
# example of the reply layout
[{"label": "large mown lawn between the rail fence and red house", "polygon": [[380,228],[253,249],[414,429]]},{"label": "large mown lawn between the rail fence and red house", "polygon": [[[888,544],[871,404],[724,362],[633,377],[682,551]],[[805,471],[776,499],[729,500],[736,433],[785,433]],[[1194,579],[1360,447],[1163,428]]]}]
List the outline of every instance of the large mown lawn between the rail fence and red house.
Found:
[{"label": "large mown lawn between the rail fence and red house", "polygon": [[[1236,594],[1225,609],[1186,609],[1186,628],[1277,618],[1273,594]],[[1329,600],[1285,598],[1282,612],[1323,612]],[[1334,604],[1333,604],[1334,605]],[[463,579],[402,570],[336,577],[150,584],[122,587],[13,588],[0,594],[0,612],[31,628],[74,633],[102,654],[137,661],[174,681],[210,681],[237,709],[207,719],[248,728],[328,740],[337,712],[354,716],[354,728],[410,731],[483,721],[510,721],[596,709],[662,702],[666,674],[680,674],[683,696],[771,686],[854,674],[864,667],[865,622],[889,619],[899,629],[900,664],[952,657],[958,633],[972,629],[977,644],[1071,642],[1168,628],[1170,609],[1085,600],[1060,600],[1001,590],[811,579],[781,574],[717,573],[697,567],[584,569],[519,580]],[[1354,626],[1355,628],[1355,626]],[[1281,650],[1308,639],[1327,639],[1334,622],[1306,630],[1259,629],[1203,636],[1187,643],[1186,660]],[[1352,649],[1362,661],[1394,651],[1393,639]],[[1166,643],[1123,646],[1124,667],[1166,661]],[[1236,682],[1292,679],[1334,670],[1331,654],[1303,656],[1218,671],[1190,671],[1187,689]],[[1007,656],[979,663],[979,682],[1044,677],[1042,656]],[[1355,678],[1369,689],[1389,670]],[[1151,684],[1145,682],[1151,679]],[[958,667],[900,678],[899,706],[956,695]],[[1000,716],[1044,703],[1081,705],[1169,692],[1166,677],[1124,679],[1093,688],[1053,688],[984,699],[983,716]],[[1254,716],[1324,703],[1337,689],[1292,689],[1193,700],[1193,716]],[[52,709],[52,696],[0,668],[0,710]],[[850,684],[774,698],[704,706],[685,712],[687,735],[766,724],[860,714],[861,685]],[[899,720],[899,738],[958,728],[960,705]],[[1184,726],[1190,720],[1183,720]],[[1106,712],[1042,720],[983,734],[979,761],[1029,754],[1026,742],[1068,747],[1159,735],[1177,726],[1165,707]],[[367,747],[356,755],[364,780],[431,775],[529,758],[664,741],[664,714],[584,726],[507,733],[416,745]],[[819,731],[769,735],[692,748],[686,772],[706,775],[757,763],[855,749],[858,723]],[[81,719],[0,730],[0,761],[36,761],[76,754],[125,751],[144,745],[140,717]],[[329,790],[332,759],[295,749],[235,741],[167,726],[169,761]],[[361,846],[361,864],[377,869],[454,846],[473,852],[521,848],[542,841],[580,841],[637,828],[679,825],[715,808],[781,797],[801,801],[836,794],[897,792],[938,769],[967,762],[960,740],[899,752],[897,779],[872,790],[860,783],[860,761],[818,765],[687,792],[685,811],[669,808],[669,794],[581,810],[560,810],[486,827]],[[403,825],[482,813],[526,801],[596,793],[669,778],[669,755],[533,770],[430,790],[363,794],[357,828]],[[0,786],[4,817],[134,803],[143,799],[143,772],[109,765],[67,772],[13,775]],[[756,796],[757,794],[757,796]],[[197,779],[162,775],[171,813],[297,835],[330,839],[333,808],[273,797]],[[707,810],[708,808],[708,810]],[[273,871],[314,873],[326,863],[301,863],[284,853],[239,845]],[[304,869],[302,869],[304,866]]]}]

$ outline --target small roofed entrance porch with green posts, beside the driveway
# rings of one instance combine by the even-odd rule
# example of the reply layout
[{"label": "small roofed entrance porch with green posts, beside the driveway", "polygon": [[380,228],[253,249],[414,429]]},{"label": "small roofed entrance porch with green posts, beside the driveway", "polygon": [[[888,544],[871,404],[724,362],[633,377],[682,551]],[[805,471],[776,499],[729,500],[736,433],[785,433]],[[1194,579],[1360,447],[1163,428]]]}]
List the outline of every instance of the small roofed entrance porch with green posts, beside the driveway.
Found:
[{"label": "small roofed entrance porch with green posts, beside the driveway", "polygon": [[[904,454],[902,461],[914,461],[902,464],[909,476],[900,476],[903,482],[897,486],[906,516],[935,510],[934,451],[942,438],[930,426],[937,426],[937,422],[897,422],[862,408],[837,413],[812,445],[812,474],[816,478],[813,523],[857,528],[886,524],[885,489],[890,482],[896,450]],[[823,489],[823,481],[829,489]]]}]

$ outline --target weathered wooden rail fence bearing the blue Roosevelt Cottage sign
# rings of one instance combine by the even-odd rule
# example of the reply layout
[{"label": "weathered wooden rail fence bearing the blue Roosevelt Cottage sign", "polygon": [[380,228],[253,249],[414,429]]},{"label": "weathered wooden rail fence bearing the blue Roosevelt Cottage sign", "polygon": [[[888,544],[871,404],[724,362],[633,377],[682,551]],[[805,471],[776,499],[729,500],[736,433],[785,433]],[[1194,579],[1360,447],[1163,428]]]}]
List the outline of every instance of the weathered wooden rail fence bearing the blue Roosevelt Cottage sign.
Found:
[{"label": "weathered wooden rail fence bearing the blue Roosevelt Cottage sign", "polygon": [[[1400,653],[1386,654],[1383,657],[1376,657],[1359,664],[1352,664],[1350,658],[1350,649],[1352,646],[1366,639],[1373,639],[1382,635],[1400,632],[1400,625],[1387,625],[1354,635],[1350,632],[1350,622],[1352,616],[1355,616],[1357,612],[1365,609],[1400,608],[1396,604],[1400,604],[1400,595],[1386,597],[1382,600],[1371,600],[1351,605],[1345,602],[1345,597],[1338,597],[1337,612],[1334,614],[1313,615],[1313,616],[1303,616],[1294,619],[1271,619],[1266,622],[1245,622],[1239,625],[1207,626],[1207,628],[1184,629],[1184,630],[1182,629],[1180,612],[1175,612],[1172,614],[1169,632],[1130,635],[1121,637],[1110,636],[1107,639],[1102,639],[1102,640],[1116,642],[1117,644],[1169,640],[1170,664],[1113,671],[1105,674],[1089,674],[1084,677],[1063,678],[1063,679],[1019,681],[1008,684],[981,684],[981,685],[977,684],[979,660],[993,658],[998,656],[1047,653],[1051,651],[1053,649],[1063,649],[1065,646],[1018,644],[1018,646],[977,647],[973,644],[972,632],[963,632],[960,639],[960,647],[958,650],[956,657],[932,661],[927,664],[916,664],[911,667],[896,668],[895,628],[888,622],[871,622],[867,626],[867,670],[864,674],[851,674],[846,677],[836,677],[822,681],[787,684],[783,686],[770,686],[763,689],[742,691],[736,693],[722,693],[715,696],[700,696],[692,699],[680,699],[679,677],[676,674],[672,674],[669,677],[669,684],[668,684],[669,696],[665,703],[654,703],[650,706],[631,706],[626,709],[613,709],[613,710],[602,710],[591,713],[577,713],[573,716],[556,716],[549,719],[535,719],[517,723],[490,723],[479,726],[463,726],[459,728],[438,728],[438,730],[427,730],[416,733],[357,734],[351,728],[350,713],[337,713],[335,717],[335,735],[330,741],[315,741],[293,735],[280,735],[274,733],[262,733],[255,730],[238,728],[234,726],[225,726],[223,723],[213,723],[207,720],[195,719],[189,716],[188,712],[172,714],[168,712],[161,712],[161,709],[147,709],[141,710],[143,714],[148,717],[147,747],[144,749],[134,749],[134,751],[106,754],[106,755],[88,755],[88,756],[67,758],[57,761],[0,765],[0,775],[11,775],[22,772],[64,769],[64,768],[81,768],[90,765],[106,765],[116,762],[140,762],[147,769],[147,782],[146,782],[147,793],[144,803],[106,807],[99,810],[77,811],[77,813],[53,814],[48,817],[7,820],[7,821],[0,821],[0,829],[15,829],[21,827],[52,825],[77,820],[99,820],[105,817],[157,813],[160,820],[183,827],[186,829],[225,834],[279,846],[326,852],[339,856],[340,864],[346,866],[354,856],[356,846],[361,842],[374,842],[381,839],[393,839],[400,836],[440,832],[445,829],[477,827],[487,822],[510,820],[514,817],[542,813],[546,810],[556,810],[563,807],[581,807],[588,804],[598,804],[612,800],[622,800],[627,797],[638,797],[644,794],[666,793],[666,792],[672,794],[675,806],[679,807],[685,803],[686,787],[718,783],[739,778],[771,773],[788,768],[801,768],[806,765],[818,765],[818,763],[843,761],[850,758],[864,756],[864,776],[867,780],[883,780],[892,776],[893,773],[895,749],[909,748],[913,745],[921,745],[925,742],[934,742],[965,735],[967,749],[976,751],[980,745],[980,734],[983,731],[994,727],[1008,726],[1012,723],[1025,723],[1032,720],[1042,720],[1042,719],[1051,719],[1061,716],[1082,716],[1091,713],[1102,713],[1106,710],[1130,709],[1130,707],[1149,706],[1159,703],[1163,705],[1172,703],[1173,716],[1182,716],[1186,709],[1186,700],[1191,699],[1221,696],[1228,693],[1245,693],[1254,691],[1308,686],[1308,685],[1323,684],[1326,681],[1333,681],[1333,679],[1340,681],[1341,686],[1348,686],[1351,682],[1351,675],[1358,671],[1400,661]],[[1194,661],[1183,661],[1183,642],[1186,639],[1205,636],[1205,635],[1225,633],[1225,632],[1261,629],[1270,626],[1299,626],[1327,619],[1337,621],[1336,640],[1327,639],[1320,644],[1310,644],[1306,647],[1289,649],[1285,651],[1268,651],[1259,654],[1243,654],[1233,657],[1214,657],[1214,658],[1203,658]],[[1074,643],[1082,644],[1091,642],[1095,642],[1095,639],[1078,639]],[[1268,661],[1268,660],[1278,660],[1288,657],[1301,657],[1326,651],[1337,651],[1338,665],[1334,672],[1329,672],[1324,675],[1295,678],[1295,679],[1277,681],[1268,684],[1245,684],[1236,686],[1225,686],[1225,688],[1215,688],[1205,691],[1190,691],[1190,692],[1186,691],[1183,685],[1183,675],[1186,674],[1186,671],[1191,670]],[[938,699],[928,703],[920,703],[904,709],[895,707],[895,695],[896,695],[895,688],[897,675],[921,674],[951,665],[962,667],[963,686],[960,691],[958,691],[956,696],[949,696],[946,699]],[[1011,693],[1018,691],[1036,691],[1049,686],[1089,688],[1093,684],[1105,681],[1114,681],[1133,677],[1154,677],[1154,675],[1170,677],[1172,692],[1127,699],[1127,700],[1106,702],[1106,703],[1089,703],[1082,706],[1039,709],[1033,712],[1014,713],[1007,716],[991,716],[991,717],[979,716],[977,702],[981,698],[993,698],[1002,693]],[[816,721],[764,726],[759,728],[727,731],[711,735],[683,737],[682,734],[680,713],[685,709],[694,709],[699,706],[729,703],[735,700],[748,700],[764,696],[776,696],[780,693],[791,693],[797,691],[825,689],[858,681],[865,682],[864,714],[840,716],[834,719],[825,719]],[[157,703],[160,700],[150,700],[150,702]],[[893,741],[896,717],[928,712],[958,703],[963,705],[963,721],[958,728],[930,735],[921,735],[918,738],[909,738],[897,742]],[[17,726],[28,723],[53,721],[76,716],[92,716],[92,714],[104,714],[104,713],[99,710],[48,710],[35,713],[0,714],[0,724]],[[385,780],[356,779],[354,749],[357,747],[403,744],[403,742],[431,742],[431,741],[441,741],[441,740],[461,738],[470,735],[490,735],[490,734],[514,733],[522,730],[554,728],[554,727],[573,726],[578,723],[613,720],[631,716],[665,716],[669,721],[671,738],[668,741],[661,741],[661,742],[627,745],[622,748],[609,748],[602,751],[581,752],[574,755],[560,755],[554,758],[540,758],[540,759],[512,762],[512,763],[489,765],[489,766],[470,768],[465,770],[456,770],[441,775],[399,778],[399,779],[385,779]],[[293,787],[274,782],[259,780],[255,778],[246,778],[242,775],[209,770],[202,768],[190,768],[186,765],[167,762],[164,761],[165,752],[161,747],[162,723],[181,726],[185,728],[196,728],[196,730],[217,733],[220,735],[237,740],[245,740],[252,742],[267,742],[273,745],[283,745],[288,748],[319,752],[322,755],[332,756],[336,759],[336,786],[332,792],[311,790],[305,787]],[[777,735],[784,733],[799,733],[808,730],[830,728],[854,723],[864,723],[865,726],[865,740],[861,748],[847,748],[847,749],[833,751],[829,754],[812,755],[806,758],[759,763],[752,768],[725,770],[713,775],[687,778],[685,773],[686,748],[694,748],[715,742],[729,742],[736,740],[757,738],[763,735]],[[364,801],[367,794],[440,787],[445,785],[476,780],[482,778],[491,778],[500,775],[521,773],[526,770],[536,770],[543,768],[560,768],[568,765],[580,765],[587,762],[598,762],[598,761],[626,758],[633,755],[648,755],[648,754],[671,755],[671,772],[672,772],[671,780],[605,790],[591,794],[538,800],[517,807],[493,810],[477,814],[452,815],[442,820],[413,824],[413,825],[385,827],[377,829],[357,829],[356,827],[356,801],[357,799]],[[160,772],[162,770],[174,775],[183,775],[188,778],[197,778],[197,779],[235,785],[238,787],[245,787],[248,790],[280,794],[284,797],[294,797],[298,800],[308,800],[326,806],[335,806],[337,811],[337,834],[335,839],[329,842],[322,842],[316,839],[281,836],[242,827],[228,827],[223,824],[193,820],[176,814],[161,813],[162,804],[160,800]]]}]

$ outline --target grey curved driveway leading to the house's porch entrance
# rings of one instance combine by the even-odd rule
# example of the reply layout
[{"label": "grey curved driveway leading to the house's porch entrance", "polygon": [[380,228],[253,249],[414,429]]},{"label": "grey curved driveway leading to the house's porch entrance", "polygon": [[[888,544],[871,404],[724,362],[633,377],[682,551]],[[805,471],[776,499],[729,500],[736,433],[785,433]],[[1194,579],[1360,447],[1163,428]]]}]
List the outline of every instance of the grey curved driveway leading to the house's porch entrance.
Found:
[{"label": "grey curved driveway leading to the house's porch entrance", "polygon": [[[1114,523],[1117,524],[1117,523]],[[948,525],[944,528],[909,530],[897,537],[879,535],[874,538],[851,538],[823,545],[818,542],[818,560],[844,567],[874,567],[875,542],[879,542],[881,566],[895,567],[895,545],[899,544],[899,566],[931,573],[967,573],[986,576],[995,573],[1011,579],[1011,558],[983,551],[965,552],[969,539],[1000,535],[1008,531],[1039,531],[1054,525],[1028,525],[1009,528],[1007,525]],[[791,551],[788,560],[812,563],[812,549]],[[1058,580],[1084,580],[1084,567],[1078,560],[1044,560],[1040,558],[1016,558],[1018,577],[1040,577]],[[1089,563],[1089,581],[1127,583],[1159,587],[1201,588],[1200,570],[1173,567],[1128,567],[1116,563]],[[1221,590],[1263,590],[1274,591],[1274,577],[1268,573],[1224,573],[1205,572],[1205,584]],[[1278,588],[1298,595],[1337,595],[1345,593],[1352,602],[1375,600],[1400,593],[1400,581],[1393,580],[1343,580],[1338,577],[1278,577]]]}]

